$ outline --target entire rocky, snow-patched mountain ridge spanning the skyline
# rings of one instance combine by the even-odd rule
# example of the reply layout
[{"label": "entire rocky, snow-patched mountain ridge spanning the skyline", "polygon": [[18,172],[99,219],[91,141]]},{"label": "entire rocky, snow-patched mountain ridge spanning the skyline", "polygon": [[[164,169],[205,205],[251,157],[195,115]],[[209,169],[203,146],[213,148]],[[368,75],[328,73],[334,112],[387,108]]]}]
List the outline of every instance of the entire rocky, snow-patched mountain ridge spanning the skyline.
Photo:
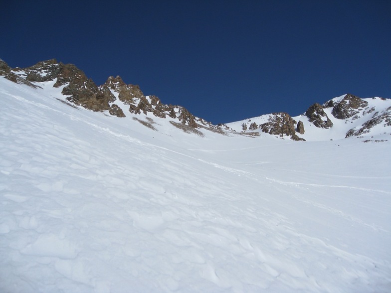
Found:
[{"label": "entire rocky, snow-patched mountain ridge spanning the skyline", "polygon": [[[391,134],[391,100],[375,97],[384,101],[370,103],[368,99],[361,99],[352,94],[345,94],[326,101],[322,105],[311,105],[302,115],[291,117],[288,113],[277,112],[265,114],[238,122],[213,125],[212,123],[196,117],[186,108],[179,105],[164,104],[154,95],[146,96],[138,85],[126,84],[120,76],[109,76],[103,85],[96,85],[82,70],[74,64],[64,64],[56,59],[40,61],[26,68],[10,68],[5,61],[0,59],[0,76],[15,83],[31,87],[41,87],[42,83],[53,81],[54,88],[61,88],[59,99],[64,99],[70,105],[81,106],[95,112],[107,112],[111,116],[125,118],[127,115],[152,114],[153,117],[171,118],[172,124],[182,128],[188,133],[197,133],[197,129],[206,128],[221,134],[240,133],[245,136],[260,136],[266,133],[280,138],[289,138],[294,141],[306,141],[312,139],[306,134],[306,130],[319,129],[319,132],[329,130],[334,132],[343,121],[345,124],[354,123],[353,127],[344,128],[344,135],[330,136],[330,139],[343,139],[348,137],[372,137],[380,134]],[[60,94],[63,97],[60,97]],[[386,106],[386,107],[384,107]],[[378,109],[380,108],[380,109]],[[325,109],[330,113],[326,114]],[[371,115],[370,115],[371,114]],[[365,119],[362,119],[364,118]],[[136,121],[141,121],[133,117]],[[150,118],[152,119],[152,118]],[[334,121],[334,123],[333,123]],[[148,126],[149,122],[143,122]],[[383,133],[375,131],[377,126],[382,126]],[[150,127],[150,126],[149,126]],[[381,140],[378,140],[381,141]]]}]

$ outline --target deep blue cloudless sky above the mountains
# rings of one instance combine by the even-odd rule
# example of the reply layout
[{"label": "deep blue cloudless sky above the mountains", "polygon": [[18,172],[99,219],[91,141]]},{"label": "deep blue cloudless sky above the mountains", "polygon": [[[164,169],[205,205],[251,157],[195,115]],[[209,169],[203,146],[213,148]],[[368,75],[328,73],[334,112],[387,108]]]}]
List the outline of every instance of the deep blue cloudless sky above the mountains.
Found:
[{"label": "deep blue cloudless sky above the mountains", "polygon": [[3,1],[0,58],[56,58],[213,123],[391,98],[390,0]]}]

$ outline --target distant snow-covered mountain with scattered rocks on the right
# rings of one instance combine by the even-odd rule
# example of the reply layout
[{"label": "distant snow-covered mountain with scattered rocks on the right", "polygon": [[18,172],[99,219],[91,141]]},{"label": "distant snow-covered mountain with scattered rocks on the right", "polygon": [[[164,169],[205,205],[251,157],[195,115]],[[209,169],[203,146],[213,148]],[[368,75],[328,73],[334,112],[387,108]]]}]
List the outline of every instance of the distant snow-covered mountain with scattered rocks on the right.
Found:
[{"label": "distant snow-covered mountain with scattered rocks on the right", "polygon": [[[293,140],[324,141],[356,137],[364,142],[390,139],[391,100],[342,95],[313,104],[297,117],[274,113],[227,124],[236,131],[265,132]],[[375,138],[375,139],[374,139]]]}]

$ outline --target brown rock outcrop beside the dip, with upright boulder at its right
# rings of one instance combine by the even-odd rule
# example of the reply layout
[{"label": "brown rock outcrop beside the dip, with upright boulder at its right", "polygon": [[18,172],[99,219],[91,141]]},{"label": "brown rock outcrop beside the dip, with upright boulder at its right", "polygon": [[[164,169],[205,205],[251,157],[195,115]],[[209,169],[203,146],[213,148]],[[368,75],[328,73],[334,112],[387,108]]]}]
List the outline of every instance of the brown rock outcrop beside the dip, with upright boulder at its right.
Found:
[{"label": "brown rock outcrop beside the dip, with upright boulder at its right", "polygon": [[267,123],[259,125],[259,129],[271,135],[286,135],[294,141],[304,141],[296,135],[295,125],[296,121],[288,113],[280,112],[273,113]]}]

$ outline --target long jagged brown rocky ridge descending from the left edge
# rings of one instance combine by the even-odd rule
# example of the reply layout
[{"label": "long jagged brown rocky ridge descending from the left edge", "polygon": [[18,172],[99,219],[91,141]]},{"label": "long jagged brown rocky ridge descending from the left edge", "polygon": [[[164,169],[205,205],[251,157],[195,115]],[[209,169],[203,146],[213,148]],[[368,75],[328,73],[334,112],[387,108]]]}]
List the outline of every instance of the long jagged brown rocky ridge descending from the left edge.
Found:
[{"label": "long jagged brown rocky ridge descending from the left edge", "polygon": [[[223,128],[192,115],[186,108],[163,104],[156,96],[145,96],[138,85],[126,84],[121,77],[110,76],[97,86],[83,71],[73,64],[63,64],[55,59],[38,62],[27,68],[10,68],[0,60],[0,75],[19,84],[36,87],[41,82],[56,82],[53,87],[61,87],[62,94],[69,102],[92,111],[108,111],[110,115],[126,117],[126,113],[115,103],[118,99],[129,106],[132,114],[151,113],[156,117],[171,117],[191,128]],[[116,97],[116,95],[117,97]]]}]

